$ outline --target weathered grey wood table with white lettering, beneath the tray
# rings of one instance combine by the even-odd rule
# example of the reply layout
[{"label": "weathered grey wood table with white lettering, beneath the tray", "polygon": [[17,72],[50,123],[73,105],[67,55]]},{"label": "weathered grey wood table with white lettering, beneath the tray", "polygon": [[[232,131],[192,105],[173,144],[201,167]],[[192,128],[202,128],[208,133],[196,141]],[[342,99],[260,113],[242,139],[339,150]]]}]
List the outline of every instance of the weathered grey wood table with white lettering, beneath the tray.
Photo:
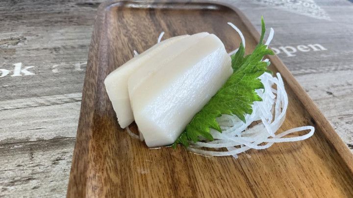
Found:
[{"label": "weathered grey wood table with white lettering, beneath the tray", "polygon": [[[0,197],[66,195],[100,2],[0,2]],[[228,2],[275,29],[273,50],[353,150],[353,3]]]}]

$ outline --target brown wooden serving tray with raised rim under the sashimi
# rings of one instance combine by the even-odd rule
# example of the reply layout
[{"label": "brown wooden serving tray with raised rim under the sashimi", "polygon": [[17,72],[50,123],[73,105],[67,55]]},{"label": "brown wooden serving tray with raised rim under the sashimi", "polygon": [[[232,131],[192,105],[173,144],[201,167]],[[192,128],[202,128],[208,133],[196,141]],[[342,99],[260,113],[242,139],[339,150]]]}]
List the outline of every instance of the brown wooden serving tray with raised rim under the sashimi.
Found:
[{"label": "brown wooden serving tray with raised rim under the sashimi", "polygon": [[[260,19],[259,19],[260,20]],[[178,147],[149,149],[117,123],[105,92],[105,77],[164,38],[207,31],[227,51],[245,35],[247,53],[259,40],[251,22],[234,7],[210,2],[134,2],[101,4],[93,31],[68,197],[352,197],[353,155],[323,114],[277,58],[289,97],[280,131],[312,125],[301,142],[250,150],[235,159],[204,157]],[[135,124],[131,126],[137,130]]]}]

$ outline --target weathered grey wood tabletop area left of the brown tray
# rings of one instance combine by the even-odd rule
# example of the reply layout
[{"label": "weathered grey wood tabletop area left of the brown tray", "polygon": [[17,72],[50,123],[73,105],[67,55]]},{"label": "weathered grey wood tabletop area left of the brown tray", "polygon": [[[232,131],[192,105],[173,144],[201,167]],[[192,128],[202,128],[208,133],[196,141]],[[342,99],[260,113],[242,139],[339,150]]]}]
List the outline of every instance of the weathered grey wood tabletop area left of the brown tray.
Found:
[{"label": "weathered grey wood tabletop area left of the brown tray", "polygon": [[[66,194],[100,2],[0,2],[0,197]],[[11,77],[16,63],[35,75]]]}]

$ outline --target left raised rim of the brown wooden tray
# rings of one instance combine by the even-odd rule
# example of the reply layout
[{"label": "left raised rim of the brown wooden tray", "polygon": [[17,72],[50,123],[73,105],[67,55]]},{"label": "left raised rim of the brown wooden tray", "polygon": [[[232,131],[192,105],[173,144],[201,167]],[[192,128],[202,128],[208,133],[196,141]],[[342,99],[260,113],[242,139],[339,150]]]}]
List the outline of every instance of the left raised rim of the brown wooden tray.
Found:
[{"label": "left raised rim of the brown wooden tray", "polygon": [[[87,179],[89,177],[89,148],[91,140],[91,126],[93,124],[93,109],[96,101],[95,93],[97,86],[97,63],[102,48],[103,25],[106,17],[106,8],[115,1],[106,1],[101,3],[97,9],[97,16],[94,22],[91,44],[89,47],[88,61],[82,91],[82,102],[76,133],[76,143],[74,148],[73,160],[68,183],[66,197],[86,197]],[[88,79],[94,79],[89,81]]]}]

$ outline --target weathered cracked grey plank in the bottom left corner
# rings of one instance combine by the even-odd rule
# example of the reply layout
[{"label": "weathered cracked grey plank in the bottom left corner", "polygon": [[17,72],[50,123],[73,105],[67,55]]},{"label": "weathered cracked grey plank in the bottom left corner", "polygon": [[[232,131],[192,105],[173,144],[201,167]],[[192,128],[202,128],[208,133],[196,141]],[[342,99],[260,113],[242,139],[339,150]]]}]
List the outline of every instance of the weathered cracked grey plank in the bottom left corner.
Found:
[{"label": "weathered cracked grey plank in the bottom left corner", "polygon": [[12,141],[0,141],[0,197],[62,198],[75,137]]}]

